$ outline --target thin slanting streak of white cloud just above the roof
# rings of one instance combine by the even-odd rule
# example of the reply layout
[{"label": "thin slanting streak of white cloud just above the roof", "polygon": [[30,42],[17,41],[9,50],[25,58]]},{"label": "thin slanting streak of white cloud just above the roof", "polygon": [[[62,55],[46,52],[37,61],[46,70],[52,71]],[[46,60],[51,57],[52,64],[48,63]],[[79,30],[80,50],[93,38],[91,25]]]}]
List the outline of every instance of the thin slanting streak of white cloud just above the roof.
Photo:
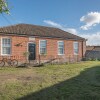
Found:
[{"label": "thin slanting streak of white cloud just above the roof", "polygon": [[65,27],[65,26],[63,26],[61,24],[58,24],[58,23],[55,23],[55,22],[53,22],[51,20],[44,20],[43,22],[48,24],[48,25],[50,25],[50,26],[52,26],[52,27],[60,28],[60,29],[62,29],[64,31],[66,31],[66,32],[69,32],[69,33],[72,33],[72,34],[77,34],[77,30],[74,29],[74,28]]}]

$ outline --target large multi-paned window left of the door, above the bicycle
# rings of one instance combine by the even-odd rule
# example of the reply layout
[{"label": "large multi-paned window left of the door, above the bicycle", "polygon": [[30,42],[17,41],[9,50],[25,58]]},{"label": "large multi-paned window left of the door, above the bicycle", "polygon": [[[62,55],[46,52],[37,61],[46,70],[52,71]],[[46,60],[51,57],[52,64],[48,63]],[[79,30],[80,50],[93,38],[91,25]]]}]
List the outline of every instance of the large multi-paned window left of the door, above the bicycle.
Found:
[{"label": "large multi-paned window left of the door, above the bicycle", "polygon": [[2,38],[2,47],[1,54],[2,55],[10,55],[11,54],[11,39],[10,38]]}]

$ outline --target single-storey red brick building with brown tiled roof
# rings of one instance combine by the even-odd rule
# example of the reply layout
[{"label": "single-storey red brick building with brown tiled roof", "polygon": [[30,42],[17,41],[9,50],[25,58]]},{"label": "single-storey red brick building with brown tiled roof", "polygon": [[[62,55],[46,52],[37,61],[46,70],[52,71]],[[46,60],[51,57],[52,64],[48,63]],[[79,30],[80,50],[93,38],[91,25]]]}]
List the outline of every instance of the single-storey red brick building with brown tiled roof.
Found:
[{"label": "single-storey red brick building with brown tiled roof", "polygon": [[58,28],[18,24],[0,28],[0,58],[27,60],[64,58],[81,60],[86,51],[86,40]]}]

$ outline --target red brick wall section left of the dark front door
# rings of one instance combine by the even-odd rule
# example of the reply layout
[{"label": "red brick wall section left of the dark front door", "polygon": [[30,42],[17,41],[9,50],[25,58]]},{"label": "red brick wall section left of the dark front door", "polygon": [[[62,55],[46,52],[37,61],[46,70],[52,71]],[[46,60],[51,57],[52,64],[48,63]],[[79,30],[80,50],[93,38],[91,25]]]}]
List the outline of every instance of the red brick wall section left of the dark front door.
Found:
[{"label": "red brick wall section left of the dark front door", "polygon": [[[11,57],[11,59],[18,59],[18,60],[25,60],[25,57],[23,56],[23,53],[25,51],[27,51],[27,42],[28,42],[28,38],[26,37],[18,37],[18,36],[0,36],[0,45],[1,45],[1,39],[2,38],[11,38],[11,46],[12,46],[12,50],[11,50],[11,55],[8,56],[4,56],[1,55],[1,46],[0,46],[0,59],[2,59],[2,57]],[[16,44],[18,43],[22,43],[21,46],[16,46]]]}]

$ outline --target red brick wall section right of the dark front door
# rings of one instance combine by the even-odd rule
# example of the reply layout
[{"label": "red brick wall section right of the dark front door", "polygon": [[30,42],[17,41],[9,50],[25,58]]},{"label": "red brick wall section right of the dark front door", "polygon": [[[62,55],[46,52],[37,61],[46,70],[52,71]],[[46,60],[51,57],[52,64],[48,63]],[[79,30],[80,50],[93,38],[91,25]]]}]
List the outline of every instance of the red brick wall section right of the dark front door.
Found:
[{"label": "red brick wall section right of the dark front door", "polygon": [[[41,56],[41,59],[50,59],[50,58],[61,57],[61,58],[66,58],[67,61],[69,61],[69,60],[77,61],[77,60],[80,60],[82,58],[82,56],[85,54],[85,49],[83,49],[83,48],[86,48],[85,42],[83,43],[82,41],[78,41],[79,42],[79,54],[76,56],[76,55],[74,55],[74,48],[73,48],[73,42],[76,42],[76,41],[59,40],[56,38],[55,39],[37,38],[36,39],[37,59],[39,59],[39,57],[38,57],[38,55],[39,55],[39,40],[47,40],[47,56]],[[58,41],[64,41],[65,54],[63,56],[58,55],[58,44],[57,44]],[[82,51],[82,49],[83,49],[83,51]]]}]

